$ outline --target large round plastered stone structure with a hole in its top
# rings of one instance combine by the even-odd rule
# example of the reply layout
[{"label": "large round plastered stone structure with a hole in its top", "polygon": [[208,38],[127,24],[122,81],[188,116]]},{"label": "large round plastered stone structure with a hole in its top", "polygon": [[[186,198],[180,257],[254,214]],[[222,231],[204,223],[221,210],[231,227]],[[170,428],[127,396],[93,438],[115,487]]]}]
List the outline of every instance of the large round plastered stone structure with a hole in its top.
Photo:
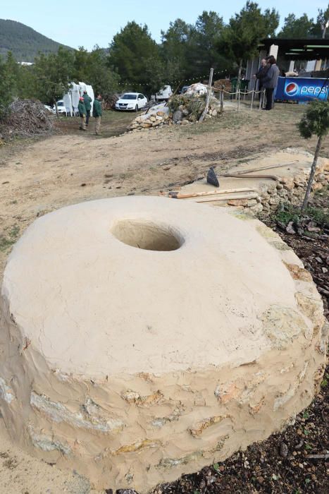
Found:
[{"label": "large round plastered stone structure with a hole in its top", "polygon": [[168,198],[37,219],[8,259],[0,329],[13,441],[140,493],[285,426],[325,363],[321,297],[290,248]]}]

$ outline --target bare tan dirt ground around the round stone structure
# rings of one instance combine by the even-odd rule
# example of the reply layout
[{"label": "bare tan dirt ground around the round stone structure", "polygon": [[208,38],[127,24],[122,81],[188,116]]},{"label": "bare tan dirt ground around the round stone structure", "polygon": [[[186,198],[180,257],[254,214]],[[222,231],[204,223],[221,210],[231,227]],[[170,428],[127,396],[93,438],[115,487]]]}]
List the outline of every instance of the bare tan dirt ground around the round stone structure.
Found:
[{"label": "bare tan dirt ground around the round stone structure", "polygon": [[[1,145],[0,279],[11,247],[25,228],[40,215],[58,207],[118,195],[158,194],[203,177],[209,166],[216,167],[216,171],[225,170],[257,152],[266,154],[288,146],[313,152],[316,140],[303,140],[296,127],[303,110],[299,105],[283,104],[276,104],[272,112],[242,108],[240,114],[225,112],[216,121],[202,125],[165,126],[125,135],[118,134],[135,115],[106,112],[102,137],[92,134],[93,122],[89,131],[82,133],[77,119],[61,118],[56,124],[56,134],[49,138],[15,140]],[[329,138],[321,154],[328,157]],[[316,476],[318,463],[315,469],[310,475]],[[307,478],[312,481],[312,477]],[[311,484],[312,490],[273,490],[272,479],[263,490],[257,482],[252,483],[254,490],[242,487],[236,492],[325,492],[316,483]],[[111,479],[108,484],[110,488]],[[76,473],[60,472],[11,445],[0,416],[0,493],[59,492],[94,491]],[[164,492],[199,494],[232,490],[224,485],[218,486],[218,490],[207,490],[206,484],[202,488],[194,484],[193,490],[168,488]]]}]

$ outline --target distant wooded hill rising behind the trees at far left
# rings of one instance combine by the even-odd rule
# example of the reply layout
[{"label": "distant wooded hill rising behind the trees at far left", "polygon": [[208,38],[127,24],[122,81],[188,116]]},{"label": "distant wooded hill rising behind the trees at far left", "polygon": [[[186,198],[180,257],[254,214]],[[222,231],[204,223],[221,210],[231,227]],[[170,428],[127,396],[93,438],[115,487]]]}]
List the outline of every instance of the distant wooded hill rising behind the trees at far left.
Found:
[{"label": "distant wooded hill rising behind the trees at far left", "polygon": [[32,62],[39,53],[56,53],[59,47],[63,44],[50,40],[25,24],[0,19],[0,56],[11,52],[17,61]]}]

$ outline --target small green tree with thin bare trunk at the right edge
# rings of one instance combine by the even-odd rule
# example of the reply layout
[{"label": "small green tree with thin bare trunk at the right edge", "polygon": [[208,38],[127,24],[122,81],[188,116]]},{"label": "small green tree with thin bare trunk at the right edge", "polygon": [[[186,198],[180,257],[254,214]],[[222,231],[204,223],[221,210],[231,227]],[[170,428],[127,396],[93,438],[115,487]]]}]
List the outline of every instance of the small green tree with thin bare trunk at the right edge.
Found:
[{"label": "small green tree with thin bare trunk at the right edge", "polygon": [[314,102],[309,103],[302,120],[298,124],[298,128],[300,135],[302,135],[304,139],[309,139],[312,135],[317,135],[318,137],[316,152],[314,153],[314,160],[302,204],[302,211],[304,211],[307,203],[309,202],[309,194],[311,192],[311,186],[316,173],[316,163],[318,162],[318,155],[321,150],[322,141],[325,135],[329,132],[329,102],[315,100]]}]

